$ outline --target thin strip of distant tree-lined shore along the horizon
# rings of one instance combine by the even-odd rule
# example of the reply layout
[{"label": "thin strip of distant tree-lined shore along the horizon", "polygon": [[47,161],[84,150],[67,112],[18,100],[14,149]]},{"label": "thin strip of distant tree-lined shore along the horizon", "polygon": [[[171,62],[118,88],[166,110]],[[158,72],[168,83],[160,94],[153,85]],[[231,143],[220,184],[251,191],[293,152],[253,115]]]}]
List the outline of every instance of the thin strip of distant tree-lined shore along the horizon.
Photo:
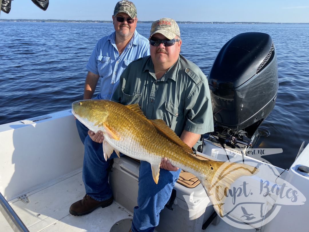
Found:
[{"label": "thin strip of distant tree-lined shore along the horizon", "polygon": [[[111,20],[66,20],[66,19],[0,19],[0,22],[43,22],[43,23],[112,23]],[[153,21],[138,21],[152,23]],[[178,24],[309,24],[309,23],[267,23],[267,22],[192,22],[176,21]]]}]

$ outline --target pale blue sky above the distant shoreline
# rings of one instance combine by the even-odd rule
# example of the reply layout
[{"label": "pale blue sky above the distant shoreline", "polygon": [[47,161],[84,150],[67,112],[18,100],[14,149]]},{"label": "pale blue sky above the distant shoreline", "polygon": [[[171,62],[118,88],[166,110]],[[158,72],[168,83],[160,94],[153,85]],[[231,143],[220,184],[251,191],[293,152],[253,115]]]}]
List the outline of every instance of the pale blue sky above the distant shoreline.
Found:
[{"label": "pale blue sky above the distant shoreline", "polygon": [[[117,1],[50,0],[47,11],[31,0],[14,0],[9,14],[0,19],[111,20]],[[138,20],[162,17],[194,22],[309,23],[309,0],[135,0]]]}]

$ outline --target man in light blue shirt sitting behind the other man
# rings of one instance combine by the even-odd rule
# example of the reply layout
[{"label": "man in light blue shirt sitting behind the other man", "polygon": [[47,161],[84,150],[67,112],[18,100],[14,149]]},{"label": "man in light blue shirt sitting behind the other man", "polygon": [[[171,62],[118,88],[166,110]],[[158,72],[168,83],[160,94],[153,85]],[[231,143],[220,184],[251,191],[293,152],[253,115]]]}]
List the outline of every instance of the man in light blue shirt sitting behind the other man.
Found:
[{"label": "man in light blue shirt sitting behind the other man", "polygon": [[[99,78],[101,91],[95,99],[110,100],[116,90],[121,73],[133,60],[149,55],[149,41],[135,30],[136,7],[133,2],[117,2],[112,15],[115,31],[101,38],[87,63],[84,99],[91,99]],[[81,216],[98,207],[112,204],[112,191],[108,184],[110,160],[102,160],[102,144],[97,136],[76,120],[79,136],[85,145],[83,181],[86,195],[70,206],[70,213]]]}]

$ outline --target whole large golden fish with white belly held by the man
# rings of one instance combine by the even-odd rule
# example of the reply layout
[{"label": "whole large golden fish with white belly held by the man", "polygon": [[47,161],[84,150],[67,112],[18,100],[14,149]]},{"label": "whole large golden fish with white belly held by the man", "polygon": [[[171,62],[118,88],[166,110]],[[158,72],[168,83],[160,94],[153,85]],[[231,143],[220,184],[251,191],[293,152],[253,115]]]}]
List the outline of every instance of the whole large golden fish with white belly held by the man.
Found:
[{"label": "whole large golden fish with white belly held by the man", "polygon": [[121,105],[108,100],[83,100],[72,104],[72,113],[91,131],[104,133],[107,160],[113,150],[151,164],[154,181],[159,181],[161,158],[194,174],[201,182],[216,212],[223,217],[225,192],[240,176],[258,172],[256,167],[231,162],[199,160],[161,119],[148,120],[137,104]]}]

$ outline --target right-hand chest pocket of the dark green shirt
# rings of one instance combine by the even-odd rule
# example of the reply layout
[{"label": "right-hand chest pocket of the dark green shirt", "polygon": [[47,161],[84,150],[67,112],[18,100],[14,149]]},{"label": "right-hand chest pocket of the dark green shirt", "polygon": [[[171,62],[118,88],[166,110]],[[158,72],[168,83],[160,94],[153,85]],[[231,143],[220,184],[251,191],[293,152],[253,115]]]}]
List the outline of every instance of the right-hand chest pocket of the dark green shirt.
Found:
[{"label": "right-hand chest pocket of the dark green shirt", "polygon": [[168,101],[165,102],[165,110],[163,120],[172,130],[175,130],[177,122],[184,122],[184,108],[181,105],[174,105]]}]

